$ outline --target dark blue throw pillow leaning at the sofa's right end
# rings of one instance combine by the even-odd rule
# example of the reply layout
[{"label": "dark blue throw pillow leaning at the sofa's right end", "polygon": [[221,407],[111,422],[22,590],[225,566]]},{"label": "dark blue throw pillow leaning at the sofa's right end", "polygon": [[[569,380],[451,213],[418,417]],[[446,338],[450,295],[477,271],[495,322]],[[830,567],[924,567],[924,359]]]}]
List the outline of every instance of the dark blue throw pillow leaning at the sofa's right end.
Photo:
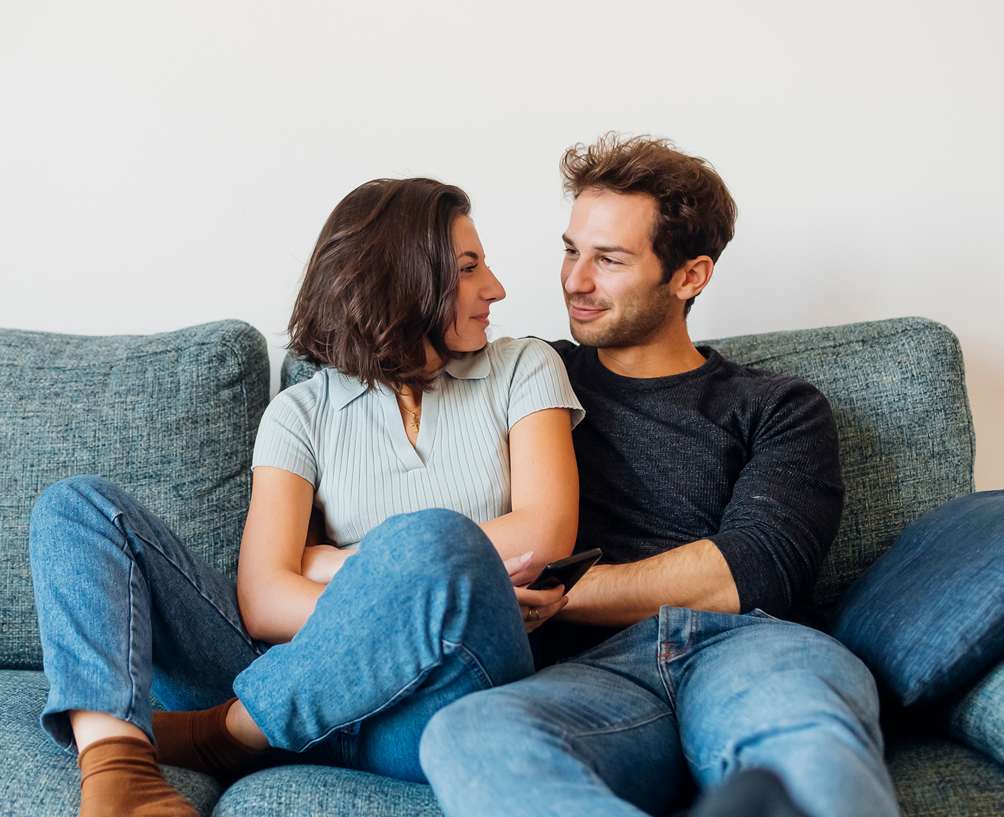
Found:
[{"label": "dark blue throw pillow leaning at the sofa's right end", "polygon": [[911,524],[843,594],[830,634],[905,707],[940,701],[997,663],[1004,491],[957,497]]}]

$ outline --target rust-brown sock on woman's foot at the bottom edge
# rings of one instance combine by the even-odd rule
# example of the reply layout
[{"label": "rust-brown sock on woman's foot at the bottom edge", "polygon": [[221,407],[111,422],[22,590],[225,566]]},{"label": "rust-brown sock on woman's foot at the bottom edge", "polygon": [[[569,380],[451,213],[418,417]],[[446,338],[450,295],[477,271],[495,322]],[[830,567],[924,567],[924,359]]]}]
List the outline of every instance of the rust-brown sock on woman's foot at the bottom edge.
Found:
[{"label": "rust-brown sock on woman's foot at the bottom edge", "polygon": [[199,817],[161,776],[157,752],[143,738],[102,738],[76,759],[80,817]]}]

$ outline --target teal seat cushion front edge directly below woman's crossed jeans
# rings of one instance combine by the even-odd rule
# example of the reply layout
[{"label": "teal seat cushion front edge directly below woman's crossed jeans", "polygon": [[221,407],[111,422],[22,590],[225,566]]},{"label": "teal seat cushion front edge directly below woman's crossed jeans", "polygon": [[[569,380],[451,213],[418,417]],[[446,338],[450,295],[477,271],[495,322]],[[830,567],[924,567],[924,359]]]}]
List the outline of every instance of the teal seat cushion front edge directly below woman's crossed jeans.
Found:
[{"label": "teal seat cushion front edge directly below woman's crossed jeans", "polygon": [[442,817],[432,789],[326,766],[283,766],[237,781],[213,817]]}]

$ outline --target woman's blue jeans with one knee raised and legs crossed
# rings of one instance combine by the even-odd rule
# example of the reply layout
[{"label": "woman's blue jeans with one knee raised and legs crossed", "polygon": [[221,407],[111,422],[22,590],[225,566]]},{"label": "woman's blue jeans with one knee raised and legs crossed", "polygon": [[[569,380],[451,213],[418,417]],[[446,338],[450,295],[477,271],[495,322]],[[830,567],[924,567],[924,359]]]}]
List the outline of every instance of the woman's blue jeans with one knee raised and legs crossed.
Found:
[{"label": "woman's blue jeans with one knee raised and legs crossed", "polygon": [[153,739],[151,691],[171,710],[236,692],[274,747],[425,782],[429,718],[533,671],[501,559],[452,511],[370,531],[293,640],[271,647],[248,635],[234,583],[105,480],[47,489],[29,539],[50,684],[41,721],[65,748],[69,710],[107,713]]}]

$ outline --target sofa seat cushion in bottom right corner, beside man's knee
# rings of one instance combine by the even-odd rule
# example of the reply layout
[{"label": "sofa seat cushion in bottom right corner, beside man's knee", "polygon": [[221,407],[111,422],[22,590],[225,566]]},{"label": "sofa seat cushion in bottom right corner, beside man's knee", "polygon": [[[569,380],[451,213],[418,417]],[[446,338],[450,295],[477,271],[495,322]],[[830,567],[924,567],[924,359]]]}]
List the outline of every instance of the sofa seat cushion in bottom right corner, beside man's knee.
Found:
[{"label": "sofa seat cushion in bottom right corner, beside man's knee", "polygon": [[903,817],[1004,814],[1004,769],[975,749],[911,730],[887,735],[886,762]]}]

